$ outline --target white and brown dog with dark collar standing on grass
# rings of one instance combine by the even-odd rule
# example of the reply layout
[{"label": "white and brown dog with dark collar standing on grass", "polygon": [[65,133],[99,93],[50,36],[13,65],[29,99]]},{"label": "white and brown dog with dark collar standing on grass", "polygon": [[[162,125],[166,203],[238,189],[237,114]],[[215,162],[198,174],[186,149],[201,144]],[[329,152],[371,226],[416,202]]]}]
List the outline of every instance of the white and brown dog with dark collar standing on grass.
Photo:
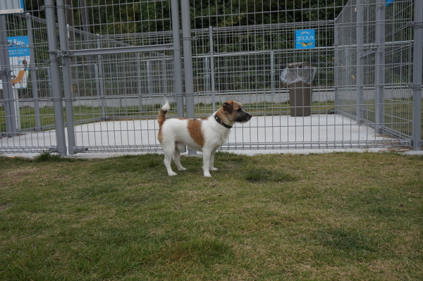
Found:
[{"label": "white and brown dog with dark collar standing on grass", "polygon": [[171,118],[166,120],[170,109],[168,101],[161,107],[158,115],[159,135],[157,139],[164,152],[164,165],[168,175],[176,175],[171,168],[175,161],[178,170],[186,170],[180,165],[180,151],[186,144],[190,149],[202,151],[204,177],[212,177],[214,153],[228,139],[229,129],[235,122],[245,123],[251,114],[243,109],[238,101],[226,101],[212,116],[203,119]]}]

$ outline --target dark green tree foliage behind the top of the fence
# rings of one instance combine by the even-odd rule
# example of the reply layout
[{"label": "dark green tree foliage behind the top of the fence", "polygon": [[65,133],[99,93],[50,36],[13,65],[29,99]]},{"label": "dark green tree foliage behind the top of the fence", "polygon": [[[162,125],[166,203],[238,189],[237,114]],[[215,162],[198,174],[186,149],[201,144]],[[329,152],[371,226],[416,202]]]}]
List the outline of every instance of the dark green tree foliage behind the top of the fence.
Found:
[{"label": "dark green tree foliage behind the top of the fence", "polygon": [[[333,20],[347,0],[190,0],[191,27],[202,29]],[[84,5],[86,4],[86,8]],[[82,28],[86,13],[94,34],[171,30],[171,1],[66,0],[73,23]],[[25,9],[44,18],[42,0],[25,0]]]}]

